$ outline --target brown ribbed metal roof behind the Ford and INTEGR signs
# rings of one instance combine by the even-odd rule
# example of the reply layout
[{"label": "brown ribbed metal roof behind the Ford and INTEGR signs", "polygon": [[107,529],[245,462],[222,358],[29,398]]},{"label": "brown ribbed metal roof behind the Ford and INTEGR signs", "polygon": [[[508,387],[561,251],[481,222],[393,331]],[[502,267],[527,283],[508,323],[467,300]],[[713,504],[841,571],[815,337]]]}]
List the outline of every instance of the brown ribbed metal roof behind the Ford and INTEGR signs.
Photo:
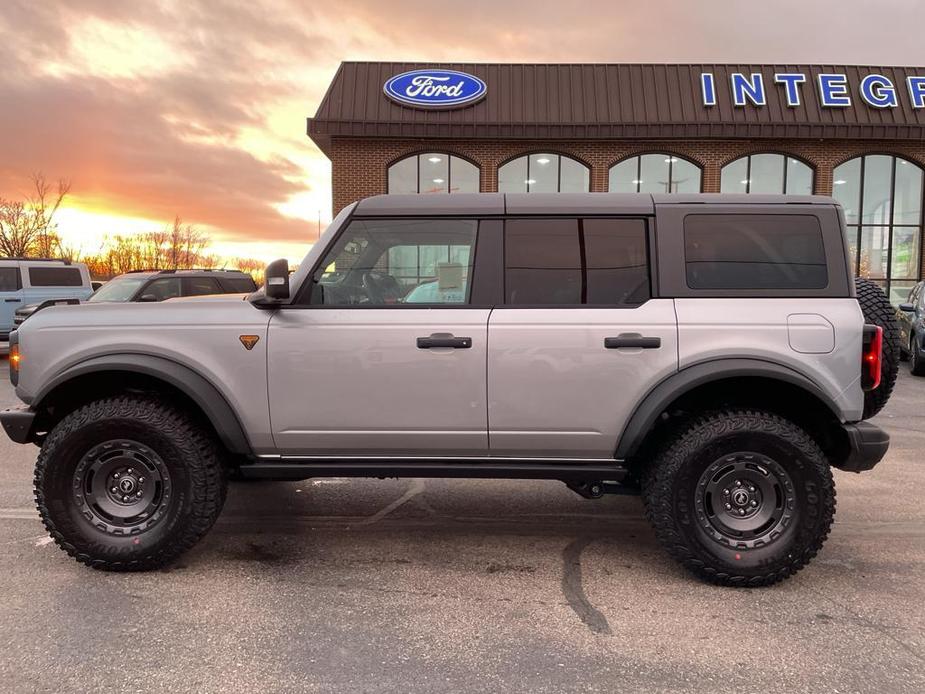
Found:
[{"label": "brown ribbed metal roof behind the Ford and INTEGR signs", "polygon": [[[478,103],[454,110],[401,106],[383,93],[394,75],[416,68],[468,72],[488,85]],[[717,105],[704,106],[700,75],[715,76]],[[766,106],[732,103],[733,72],[764,76]],[[777,72],[806,74],[801,105],[788,107]],[[851,106],[820,105],[816,75],[847,75]],[[893,81],[899,105],[862,101],[861,79]],[[914,109],[908,75],[925,68],[855,65],[750,64],[495,64],[342,63],[308,119],[322,147],[332,137],[626,139],[626,138],[851,138],[925,139],[925,109]]]}]

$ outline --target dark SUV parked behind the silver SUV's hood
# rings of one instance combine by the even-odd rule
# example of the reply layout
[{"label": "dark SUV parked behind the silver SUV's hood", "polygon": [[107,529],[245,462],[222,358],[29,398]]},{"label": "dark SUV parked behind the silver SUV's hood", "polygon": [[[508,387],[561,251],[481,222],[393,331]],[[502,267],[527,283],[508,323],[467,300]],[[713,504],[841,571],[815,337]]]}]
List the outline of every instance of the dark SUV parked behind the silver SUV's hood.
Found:
[{"label": "dark SUV parked behind the silver SUV's hood", "polygon": [[[249,294],[256,289],[254,278],[239,270],[135,270],[101,284],[87,302],[164,301],[206,294]],[[17,309],[13,324],[20,326],[40,305]]]}]

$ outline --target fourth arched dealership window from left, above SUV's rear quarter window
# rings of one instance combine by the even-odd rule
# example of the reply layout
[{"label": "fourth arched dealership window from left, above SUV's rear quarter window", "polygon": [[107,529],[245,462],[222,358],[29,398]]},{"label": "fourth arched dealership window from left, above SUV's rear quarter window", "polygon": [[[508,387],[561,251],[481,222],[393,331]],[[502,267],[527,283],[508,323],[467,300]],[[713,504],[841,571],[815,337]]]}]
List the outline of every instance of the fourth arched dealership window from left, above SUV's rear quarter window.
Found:
[{"label": "fourth arched dealership window from left, above SUV's rear quarter window", "polygon": [[812,195],[813,170],[783,154],[749,154],[723,167],[720,191]]}]

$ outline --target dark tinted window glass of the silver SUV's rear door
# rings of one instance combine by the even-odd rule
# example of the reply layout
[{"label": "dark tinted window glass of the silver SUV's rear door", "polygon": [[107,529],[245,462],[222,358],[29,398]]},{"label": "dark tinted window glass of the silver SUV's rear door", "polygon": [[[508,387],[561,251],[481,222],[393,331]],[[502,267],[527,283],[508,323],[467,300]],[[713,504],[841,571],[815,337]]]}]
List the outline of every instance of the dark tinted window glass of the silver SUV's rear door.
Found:
[{"label": "dark tinted window glass of the silver SUV's rear door", "polygon": [[641,219],[513,219],[505,225],[510,305],[638,305],[650,297]]}]

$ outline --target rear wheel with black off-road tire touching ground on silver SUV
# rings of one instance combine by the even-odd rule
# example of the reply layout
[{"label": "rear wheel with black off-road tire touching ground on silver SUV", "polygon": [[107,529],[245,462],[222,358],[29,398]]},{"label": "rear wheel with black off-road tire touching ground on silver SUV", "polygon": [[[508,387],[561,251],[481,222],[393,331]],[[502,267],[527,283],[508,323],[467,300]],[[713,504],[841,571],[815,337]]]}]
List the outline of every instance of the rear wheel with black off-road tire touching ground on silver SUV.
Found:
[{"label": "rear wheel with black off-road tire touching ground on silver SUV", "polygon": [[[715,506],[704,495],[704,479],[715,484],[730,470],[746,485],[750,478],[744,475],[761,477],[752,468],[744,475],[736,472],[737,465],[764,468],[786,480],[779,496],[764,495],[783,508],[782,519],[789,514],[786,522],[775,521],[762,531],[766,541],[757,533],[748,542],[724,536],[717,530],[725,527],[722,511],[709,515]],[[825,455],[800,427],[768,412],[727,410],[676,430],[647,471],[643,501],[659,541],[686,569],[719,585],[767,586],[792,576],[819,552],[835,515],[835,486]],[[759,505],[755,513],[763,511]],[[761,516],[754,518],[757,523]],[[771,527],[778,529],[776,536]]]}]

